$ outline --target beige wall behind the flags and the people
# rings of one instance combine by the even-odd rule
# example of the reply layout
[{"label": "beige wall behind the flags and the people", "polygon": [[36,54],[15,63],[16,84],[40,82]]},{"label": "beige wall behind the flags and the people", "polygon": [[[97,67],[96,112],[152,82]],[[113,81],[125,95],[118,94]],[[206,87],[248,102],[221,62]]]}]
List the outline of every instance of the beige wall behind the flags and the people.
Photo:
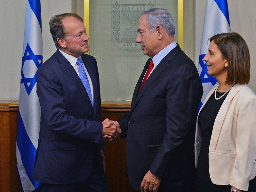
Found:
[{"label": "beige wall behind the flags and the people", "polygon": [[[127,0],[128,1],[128,0]],[[192,41],[184,42],[184,50],[196,65],[200,52],[204,12],[206,0],[193,0],[194,7],[191,5],[192,0],[184,0],[190,2],[186,9],[194,9],[194,26],[189,21],[188,30],[185,34],[192,33],[195,36]],[[43,60],[48,59],[56,48],[49,32],[49,20],[58,13],[77,12],[82,15],[81,7],[83,0],[41,0],[42,12],[42,28],[43,28]],[[251,82],[249,86],[256,92],[256,31],[255,20],[255,0],[228,0],[230,26],[232,31],[238,32],[244,37],[251,53]],[[18,100],[20,90],[20,70],[23,49],[23,37],[25,27],[26,1],[9,0],[2,1],[0,6],[0,100]],[[192,12],[186,12],[186,17],[191,19]],[[184,14],[186,14],[184,13]],[[187,20],[188,20],[187,19]],[[194,29],[192,30],[192,26]],[[184,27],[184,30],[186,27]],[[184,39],[185,40],[185,39]],[[188,44],[185,46],[185,44]],[[193,51],[191,51],[193,50]]]}]

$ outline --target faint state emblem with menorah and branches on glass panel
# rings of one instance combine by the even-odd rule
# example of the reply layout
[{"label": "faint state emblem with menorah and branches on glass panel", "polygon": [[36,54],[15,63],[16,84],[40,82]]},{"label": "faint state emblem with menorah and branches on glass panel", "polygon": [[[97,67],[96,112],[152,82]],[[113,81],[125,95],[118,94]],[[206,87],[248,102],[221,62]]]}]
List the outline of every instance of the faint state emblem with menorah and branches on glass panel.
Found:
[{"label": "faint state emblem with menorah and branches on glass panel", "polygon": [[142,12],[154,8],[154,4],[113,4],[112,43],[119,49],[135,51],[141,49],[136,43],[137,26]]}]

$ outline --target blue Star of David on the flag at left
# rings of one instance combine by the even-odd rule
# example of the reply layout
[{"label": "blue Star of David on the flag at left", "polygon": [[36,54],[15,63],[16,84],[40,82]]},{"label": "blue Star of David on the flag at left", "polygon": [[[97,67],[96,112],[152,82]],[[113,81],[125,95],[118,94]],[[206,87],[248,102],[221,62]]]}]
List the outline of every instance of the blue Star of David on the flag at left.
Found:
[{"label": "blue Star of David on the flag at left", "polygon": [[[22,57],[22,65],[21,65],[21,79],[20,84],[24,84],[26,91],[28,95],[32,91],[34,85],[36,84],[36,74],[33,78],[25,78],[23,74],[23,66],[26,60],[33,60],[37,69],[42,65],[43,62],[43,56],[42,55],[35,55],[32,49],[30,48],[29,44],[27,44],[27,47],[25,49],[24,55]],[[38,60],[41,60],[40,63]],[[37,72],[36,72],[37,73]],[[29,84],[30,83],[30,84]]]}]

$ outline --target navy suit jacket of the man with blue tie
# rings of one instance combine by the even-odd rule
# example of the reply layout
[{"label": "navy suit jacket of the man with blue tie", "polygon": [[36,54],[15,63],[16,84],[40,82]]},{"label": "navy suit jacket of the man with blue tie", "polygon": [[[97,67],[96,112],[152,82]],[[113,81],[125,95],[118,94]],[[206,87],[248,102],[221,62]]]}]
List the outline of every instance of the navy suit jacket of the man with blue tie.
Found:
[{"label": "navy suit jacket of the man with blue tie", "polygon": [[93,159],[100,158],[99,73],[94,57],[81,58],[92,79],[94,108],[75,69],[59,50],[37,71],[41,122],[32,178],[43,183],[84,181]]}]

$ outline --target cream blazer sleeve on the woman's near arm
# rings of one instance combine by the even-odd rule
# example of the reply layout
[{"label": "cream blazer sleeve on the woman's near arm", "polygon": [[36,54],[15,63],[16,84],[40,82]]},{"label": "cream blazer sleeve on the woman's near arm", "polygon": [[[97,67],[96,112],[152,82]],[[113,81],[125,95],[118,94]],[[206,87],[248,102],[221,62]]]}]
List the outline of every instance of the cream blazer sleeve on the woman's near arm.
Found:
[{"label": "cream blazer sleeve on the woman's near arm", "polygon": [[248,191],[256,158],[256,97],[246,100],[236,120],[236,160],[230,185]]}]

